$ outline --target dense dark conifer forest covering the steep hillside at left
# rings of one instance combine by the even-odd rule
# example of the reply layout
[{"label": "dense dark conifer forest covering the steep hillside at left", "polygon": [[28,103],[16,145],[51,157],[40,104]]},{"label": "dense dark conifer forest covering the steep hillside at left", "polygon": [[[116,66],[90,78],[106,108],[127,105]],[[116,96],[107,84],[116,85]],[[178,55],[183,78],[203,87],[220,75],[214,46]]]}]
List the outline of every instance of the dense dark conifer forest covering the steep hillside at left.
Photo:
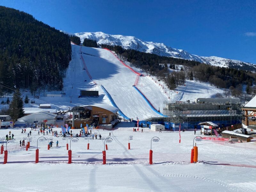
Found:
[{"label": "dense dark conifer forest covering the steep hillside at left", "polygon": [[[70,36],[25,12],[0,6],[0,82],[8,87],[61,90],[71,60]],[[73,38],[73,37],[72,37]],[[10,89],[0,86],[0,91]]]}]

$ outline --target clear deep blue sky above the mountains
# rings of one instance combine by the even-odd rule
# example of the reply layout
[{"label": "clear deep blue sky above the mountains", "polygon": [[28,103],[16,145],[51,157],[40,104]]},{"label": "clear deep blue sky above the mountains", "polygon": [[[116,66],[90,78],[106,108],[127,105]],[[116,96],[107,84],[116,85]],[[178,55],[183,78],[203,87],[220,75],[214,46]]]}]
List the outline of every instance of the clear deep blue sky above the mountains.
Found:
[{"label": "clear deep blue sky above the mountains", "polygon": [[68,32],[102,31],[256,63],[256,1],[1,0]]}]

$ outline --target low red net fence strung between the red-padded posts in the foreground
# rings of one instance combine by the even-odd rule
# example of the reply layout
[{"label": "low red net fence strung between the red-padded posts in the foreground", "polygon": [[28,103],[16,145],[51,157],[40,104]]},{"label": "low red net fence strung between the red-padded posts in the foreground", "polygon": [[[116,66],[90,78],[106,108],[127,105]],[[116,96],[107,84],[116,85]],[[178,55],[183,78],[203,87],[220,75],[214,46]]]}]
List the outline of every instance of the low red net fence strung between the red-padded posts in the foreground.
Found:
[{"label": "low red net fence strung between the red-padded posts in the foreground", "polygon": [[[185,154],[167,154],[153,153],[153,164],[190,164],[190,153]],[[36,154],[31,155],[12,155],[8,154],[7,163],[35,163]],[[102,164],[102,154],[97,155],[80,155],[76,153],[72,155],[72,163],[80,164]],[[0,156],[0,162],[4,162],[4,156]],[[43,154],[39,152],[39,163],[68,163],[68,153],[65,155]],[[148,164],[149,154],[139,155],[108,155],[106,154],[107,164]],[[198,155],[198,163],[212,165],[228,165],[256,168],[253,164],[241,164],[239,162],[227,162],[218,159],[210,158],[203,155]]]}]

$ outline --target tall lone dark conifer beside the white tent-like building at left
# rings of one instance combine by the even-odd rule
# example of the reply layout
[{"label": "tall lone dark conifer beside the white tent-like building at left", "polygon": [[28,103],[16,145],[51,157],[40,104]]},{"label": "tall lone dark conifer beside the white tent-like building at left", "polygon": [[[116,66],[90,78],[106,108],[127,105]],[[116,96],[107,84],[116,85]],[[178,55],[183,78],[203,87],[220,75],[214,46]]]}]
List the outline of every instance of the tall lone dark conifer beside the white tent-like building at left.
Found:
[{"label": "tall lone dark conifer beside the white tent-like building at left", "polygon": [[23,100],[21,98],[21,93],[19,89],[16,89],[13,94],[13,99],[9,106],[9,114],[12,117],[13,121],[16,121],[18,118],[24,116]]}]

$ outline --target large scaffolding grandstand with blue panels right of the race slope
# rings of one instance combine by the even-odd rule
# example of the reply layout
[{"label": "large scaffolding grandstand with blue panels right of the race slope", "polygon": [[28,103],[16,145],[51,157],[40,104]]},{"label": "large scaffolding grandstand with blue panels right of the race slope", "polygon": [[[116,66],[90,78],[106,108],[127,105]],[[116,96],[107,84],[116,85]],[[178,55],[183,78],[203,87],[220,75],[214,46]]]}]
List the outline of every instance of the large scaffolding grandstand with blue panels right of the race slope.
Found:
[{"label": "large scaffolding grandstand with blue panels right of the race slope", "polygon": [[241,102],[235,102],[236,100],[232,102],[232,99],[227,99],[229,102],[222,100],[223,102],[216,103],[216,99],[222,98],[213,98],[212,102],[210,102],[211,98],[205,98],[204,103],[201,103],[202,99],[204,98],[199,98],[200,103],[191,103],[190,101],[171,103],[168,100],[164,101],[163,114],[168,116],[164,119],[165,128],[169,127],[170,130],[177,131],[180,124],[182,129],[201,129],[199,125],[201,122],[212,122],[220,128],[241,123]]}]

